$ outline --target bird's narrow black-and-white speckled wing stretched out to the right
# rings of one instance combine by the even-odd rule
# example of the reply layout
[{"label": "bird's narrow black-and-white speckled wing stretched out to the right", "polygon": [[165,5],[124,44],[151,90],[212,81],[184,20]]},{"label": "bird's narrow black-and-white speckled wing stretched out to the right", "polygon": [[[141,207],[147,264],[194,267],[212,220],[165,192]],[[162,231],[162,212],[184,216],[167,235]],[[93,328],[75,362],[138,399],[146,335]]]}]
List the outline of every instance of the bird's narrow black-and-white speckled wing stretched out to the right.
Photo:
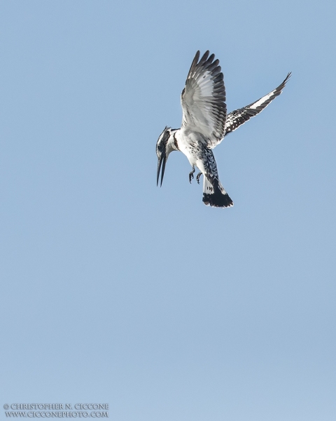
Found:
[{"label": "bird's narrow black-and-white speckled wing stretched out to the right", "polygon": [[286,79],[281,83],[281,85],[275,88],[274,91],[267,93],[267,95],[260,98],[260,100],[252,102],[252,104],[246,105],[246,107],[235,109],[235,111],[230,112],[226,119],[224,135],[228,135],[232,131],[235,131],[236,128],[241,126],[241,124],[244,124],[246,121],[251,119],[251,117],[256,116],[260,113],[260,111],[262,111],[262,109],[266,108],[267,105],[269,105],[269,102],[281,94],[289,78],[290,73],[288,73]]}]

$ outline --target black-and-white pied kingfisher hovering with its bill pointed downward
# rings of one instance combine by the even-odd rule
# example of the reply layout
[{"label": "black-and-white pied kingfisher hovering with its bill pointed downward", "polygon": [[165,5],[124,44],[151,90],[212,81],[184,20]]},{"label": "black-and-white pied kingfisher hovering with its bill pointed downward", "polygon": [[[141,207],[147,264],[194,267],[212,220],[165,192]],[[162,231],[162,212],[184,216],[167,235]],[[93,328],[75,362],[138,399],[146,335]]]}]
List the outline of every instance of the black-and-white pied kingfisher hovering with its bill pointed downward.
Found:
[{"label": "black-and-white pied kingfisher hovering with its bill pointed downward", "polygon": [[204,175],[203,202],[208,206],[227,208],[233,206],[233,202],[219,181],[217,165],[211,149],[219,145],[225,135],[235,131],[280,95],[290,73],[274,91],[246,107],[235,109],[227,114],[223,73],[219,60],[214,60],[214,58],[214,54],[209,56],[209,51],[204,53],[200,61],[200,51],[197,51],[195,55],[186,86],[181,94],[183,110],[181,128],[173,129],[166,126],[156,144],[157,185],[160,171],[160,185],[162,185],[170,152],[181,151],[193,167],[193,171],[189,174],[190,183],[194,178],[195,166],[200,170],[197,175],[199,184],[200,176]]}]

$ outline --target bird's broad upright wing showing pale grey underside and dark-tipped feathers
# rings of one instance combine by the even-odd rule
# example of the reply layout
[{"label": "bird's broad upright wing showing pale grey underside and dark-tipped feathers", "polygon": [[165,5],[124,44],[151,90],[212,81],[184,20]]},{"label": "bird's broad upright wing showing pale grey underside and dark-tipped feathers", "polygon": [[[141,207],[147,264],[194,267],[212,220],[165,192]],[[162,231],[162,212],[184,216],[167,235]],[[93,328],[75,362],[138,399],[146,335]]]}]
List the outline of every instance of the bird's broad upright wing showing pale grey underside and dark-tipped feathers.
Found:
[{"label": "bird's broad upright wing showing pale grey underside and dark-tipped feathers", "polygon": [[225,134],[225,86],[219,60],[214,58],[207,51],[200,59],[197,51],[181,95],[182,128],[202,133],[208,147]]}]

